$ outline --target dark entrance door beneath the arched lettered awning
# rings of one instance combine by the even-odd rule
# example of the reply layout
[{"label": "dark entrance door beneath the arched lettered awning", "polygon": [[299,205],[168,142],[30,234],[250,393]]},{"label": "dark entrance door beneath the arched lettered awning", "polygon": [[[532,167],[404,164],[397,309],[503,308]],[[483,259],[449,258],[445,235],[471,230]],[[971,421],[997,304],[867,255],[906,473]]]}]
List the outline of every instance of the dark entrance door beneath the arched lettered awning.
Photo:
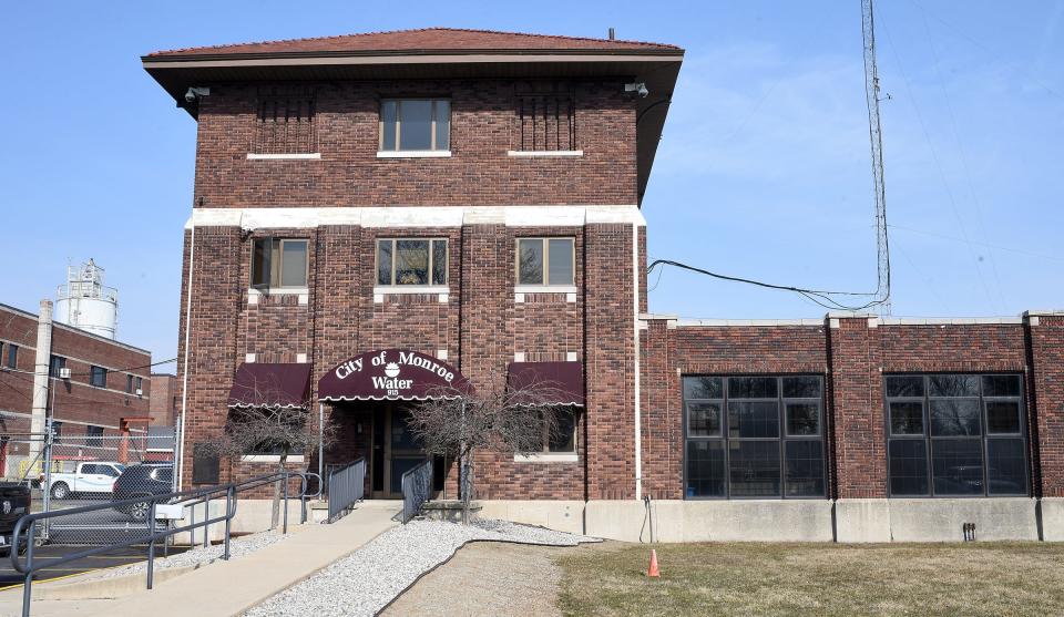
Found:
[{"label": "dark entrance door beneath the arched lettered awning", "polygon": [[402,474],[426,460],[421,444],[407,428],[410,412],[391,402],[374,414],[374,496],[402,498]]}]

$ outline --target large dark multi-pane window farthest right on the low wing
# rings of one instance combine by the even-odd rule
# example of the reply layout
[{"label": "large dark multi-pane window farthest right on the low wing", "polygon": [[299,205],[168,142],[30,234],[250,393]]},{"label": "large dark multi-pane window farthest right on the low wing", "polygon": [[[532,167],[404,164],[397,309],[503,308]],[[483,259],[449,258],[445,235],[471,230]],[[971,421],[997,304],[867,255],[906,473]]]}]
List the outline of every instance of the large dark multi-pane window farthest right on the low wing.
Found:
[{"label": "large dark multi-pane window farthest right on the low wing", "polygon": [[1020,374],[883,380],[891,496],[1026,495]]}]

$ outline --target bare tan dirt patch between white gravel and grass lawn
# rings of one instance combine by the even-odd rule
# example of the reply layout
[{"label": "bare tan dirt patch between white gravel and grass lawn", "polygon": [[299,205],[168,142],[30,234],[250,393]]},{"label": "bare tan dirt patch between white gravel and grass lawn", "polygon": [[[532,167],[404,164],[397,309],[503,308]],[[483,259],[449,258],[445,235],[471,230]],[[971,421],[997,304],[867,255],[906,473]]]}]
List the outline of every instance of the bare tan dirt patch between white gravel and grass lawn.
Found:
[{"label": "bare tan dirt patch between white gravel and grass lawn", "polygon": [[562,570],[555,559],[584,547],[469,544],[427,574],[381,615],[556,616]]}]

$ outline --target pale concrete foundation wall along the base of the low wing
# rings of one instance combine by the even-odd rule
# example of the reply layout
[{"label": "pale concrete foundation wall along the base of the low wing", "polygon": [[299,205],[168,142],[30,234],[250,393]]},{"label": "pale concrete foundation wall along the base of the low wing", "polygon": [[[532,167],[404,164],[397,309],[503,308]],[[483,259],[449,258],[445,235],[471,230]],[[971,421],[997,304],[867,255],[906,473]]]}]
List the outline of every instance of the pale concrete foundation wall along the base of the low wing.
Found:
[{"label": "pale concrete foundation wall along the base of the low wing", "polygon": [[[649,542],[643,502],[483,501],[482,516],[553,529]],[[961,542],[964,523],[979,541],[1037,541],[1037,501],[827,500],[651,502],[658,542]],[[1064,541],[1064,498],[1042,504],[1046,541]],[[833,529],[832,529],[833,526]]]}]

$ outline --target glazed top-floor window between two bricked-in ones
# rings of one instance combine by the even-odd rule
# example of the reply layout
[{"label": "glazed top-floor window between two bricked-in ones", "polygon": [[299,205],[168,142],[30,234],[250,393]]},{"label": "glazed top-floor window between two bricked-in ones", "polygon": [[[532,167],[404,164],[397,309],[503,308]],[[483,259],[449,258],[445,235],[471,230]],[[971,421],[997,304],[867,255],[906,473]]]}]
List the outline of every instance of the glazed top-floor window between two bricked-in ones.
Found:
[{"label": "glazed top-floor window between two bricked-in ones", "polygon": [[449,151],[451,102],[447,99],[386,99],[380,102],[380,151]]}]

